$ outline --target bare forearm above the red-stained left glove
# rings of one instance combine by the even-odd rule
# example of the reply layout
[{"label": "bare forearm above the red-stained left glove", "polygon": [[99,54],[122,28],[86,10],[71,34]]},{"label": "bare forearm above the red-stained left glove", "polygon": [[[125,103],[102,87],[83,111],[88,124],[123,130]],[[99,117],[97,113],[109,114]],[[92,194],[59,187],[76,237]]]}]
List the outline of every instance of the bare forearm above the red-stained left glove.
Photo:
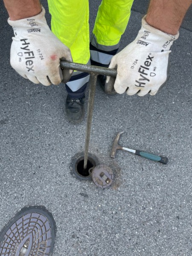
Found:
[{"label": "bare forearm above the red-stained left glove", "polygon": [[39,0],[3,0],[11,20],[35,16],[41,12]]}]

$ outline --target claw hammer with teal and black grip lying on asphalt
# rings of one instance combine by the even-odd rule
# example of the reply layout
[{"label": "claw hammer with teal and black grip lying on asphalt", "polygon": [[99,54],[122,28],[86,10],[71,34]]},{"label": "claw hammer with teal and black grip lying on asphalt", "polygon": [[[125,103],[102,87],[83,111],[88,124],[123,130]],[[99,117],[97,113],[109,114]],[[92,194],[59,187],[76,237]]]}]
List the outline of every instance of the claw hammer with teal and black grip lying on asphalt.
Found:
[{"label": "claw hammer with teal and black grip lying on asphalt", "polygon": [[116,135],[116,138],[115,138],[115,140],[113,142],[113,148],[112,148],[112,151],[111,151],[111,157],[115,158],[116,150],[117,149],[121,149],[121,150],[129,151],[131,153],[137,154],[138,156],[145,157],[147,159],[150,159],[150,160],[153,160],[153,161],[156,161],[156,162],[160,162],[160,163],[164,163],[164,164],[168,163],[168,158],[167,157],[161,157],[161,156],[157,156],[155,154],[143,152],[143,151],[140,151],[140,150],[134,150],[134,149],[130,149],[130,148],[124,148],[124,147],[120,146],[118,144],[118,141],[119,141],[119,137],[120,137],[120,135],[122,133],[124,133],[124,131],[119,132]]}]

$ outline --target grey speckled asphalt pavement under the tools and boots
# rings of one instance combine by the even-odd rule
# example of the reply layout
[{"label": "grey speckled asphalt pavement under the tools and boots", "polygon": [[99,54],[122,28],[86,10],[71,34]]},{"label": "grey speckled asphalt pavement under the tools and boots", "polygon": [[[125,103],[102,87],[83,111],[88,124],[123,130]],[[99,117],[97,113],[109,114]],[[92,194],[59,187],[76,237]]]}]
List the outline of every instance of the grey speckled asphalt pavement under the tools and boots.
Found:
[{"label": "grey speckled asphalt pavement under the tools and boots", "polygon": [[[99,2],[90,1],[90,29]],[[135,1],[120,49],[136,37],[147,5]],[[2,1],[0,8],[0,230],[21,208],[43,205],[57,225],[54,256],[192,255],[191,9],[172,47],[169,82],[156,96],[108,96],[96,88],[89,151],[115,176],[99,189],[71,170],[84,150],[86,118],[67,121],[64,85],[35,85],[15,73]],[[169,163],[126,151],[111,159],[119,131],[121,145]]]}]

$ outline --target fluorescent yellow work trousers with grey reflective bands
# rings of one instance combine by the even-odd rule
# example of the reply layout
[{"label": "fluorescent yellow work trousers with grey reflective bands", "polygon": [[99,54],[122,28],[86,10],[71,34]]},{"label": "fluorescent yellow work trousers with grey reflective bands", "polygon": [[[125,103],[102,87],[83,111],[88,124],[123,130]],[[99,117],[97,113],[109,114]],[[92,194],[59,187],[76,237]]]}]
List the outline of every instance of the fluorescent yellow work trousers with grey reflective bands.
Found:
[{"label": "fluorescent yellow work trousers with grey reflective bands", "polygon": [[102,0],[90,41],[88,0],[48,0],[52,32],[70,48],[74,62],[89,62],[91,42],[93,61],[109,64],[125,32],[133,1]]}]

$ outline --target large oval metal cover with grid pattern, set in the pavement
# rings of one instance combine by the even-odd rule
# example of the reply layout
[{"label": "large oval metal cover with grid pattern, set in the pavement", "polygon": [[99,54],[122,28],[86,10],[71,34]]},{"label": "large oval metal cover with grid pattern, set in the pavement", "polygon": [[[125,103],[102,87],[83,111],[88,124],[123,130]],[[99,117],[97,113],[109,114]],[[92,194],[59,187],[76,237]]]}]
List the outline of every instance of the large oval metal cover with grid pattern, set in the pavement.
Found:
[{"label": "large oval metal cover with grid pattern, set in the pavement", "polygon": [[51,256],[56,225],[43,206],[25,207],[0,232],[0,256]]}]

